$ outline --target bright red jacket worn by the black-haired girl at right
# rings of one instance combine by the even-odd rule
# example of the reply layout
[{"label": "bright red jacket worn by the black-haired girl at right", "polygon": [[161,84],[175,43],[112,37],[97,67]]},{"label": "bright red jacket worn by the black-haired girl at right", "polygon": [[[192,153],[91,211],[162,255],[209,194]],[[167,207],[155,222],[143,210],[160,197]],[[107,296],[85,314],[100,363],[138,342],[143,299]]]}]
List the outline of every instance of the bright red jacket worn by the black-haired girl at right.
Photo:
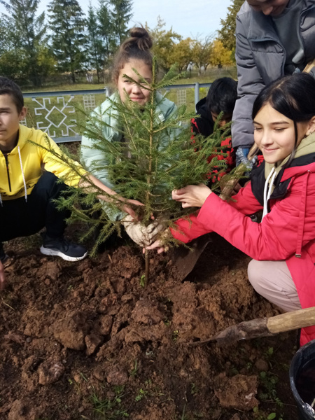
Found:
[{"label": "bright red jacket worn by the black-haired girl at right", "polygon": [[[190,216],[192,224],[184,219],[176,222],[179,230],[173,229],[173,236],[187,243],[214,231],[255,260],[286,260],[302,308],[315,306],[314,160],[279,174],[269,200],[270,211],[261,223],[245,216],[262,209],[261,200],[253,193],[251,183],[257,184],[253,179],[233,197],[235,202],[210,194],[199,213]],[[315,327],[304,328],[301,345],[314,338]]]}]

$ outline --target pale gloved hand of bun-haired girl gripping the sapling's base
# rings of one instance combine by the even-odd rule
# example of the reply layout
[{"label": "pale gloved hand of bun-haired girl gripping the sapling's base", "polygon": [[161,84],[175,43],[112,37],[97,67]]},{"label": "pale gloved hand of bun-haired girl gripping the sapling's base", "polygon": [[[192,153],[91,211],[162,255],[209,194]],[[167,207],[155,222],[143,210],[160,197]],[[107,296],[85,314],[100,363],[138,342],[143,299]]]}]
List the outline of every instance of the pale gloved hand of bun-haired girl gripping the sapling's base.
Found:
[{"label": "pale gloved hand of bun-haired girl gripping the sapling's base", "polygon": [[166,224],[162,221],[154,221],[148,226],[141,225],[140,222],[134,221],[134,218],[128,214],[123,218],[123,225],[130,238],[140,246],[148,246],[155,241],[155,237],[165,230]]}]

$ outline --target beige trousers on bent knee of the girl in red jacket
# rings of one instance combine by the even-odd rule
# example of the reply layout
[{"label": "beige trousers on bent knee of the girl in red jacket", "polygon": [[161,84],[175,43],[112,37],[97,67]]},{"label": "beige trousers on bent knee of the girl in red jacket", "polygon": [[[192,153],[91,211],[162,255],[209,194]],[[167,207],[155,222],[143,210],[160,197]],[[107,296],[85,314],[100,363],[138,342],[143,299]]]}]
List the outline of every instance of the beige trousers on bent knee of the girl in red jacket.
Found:
[{"label": "beige trousers on bent knee of the girl in red jacket", "polygon": [[257,293],[285,311],[301,309],[297,290],[286,261],[256,261],[248,264],[248,279]]}]

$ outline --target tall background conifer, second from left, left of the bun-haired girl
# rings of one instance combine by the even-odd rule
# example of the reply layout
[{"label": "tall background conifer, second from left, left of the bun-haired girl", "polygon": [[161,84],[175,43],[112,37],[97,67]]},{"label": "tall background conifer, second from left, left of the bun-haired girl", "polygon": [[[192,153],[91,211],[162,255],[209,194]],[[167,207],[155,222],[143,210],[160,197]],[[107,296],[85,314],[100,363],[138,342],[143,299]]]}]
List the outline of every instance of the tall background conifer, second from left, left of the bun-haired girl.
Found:
[{"label": "tall background conifer, second from left, left of the bun-haired girl", "polygon": [[49,25],[52,31],[52,49],[59,71],[69,71],[72,82],[76,71],[85,62],[85,18],[77,0],[52,0],[48,4]]}]

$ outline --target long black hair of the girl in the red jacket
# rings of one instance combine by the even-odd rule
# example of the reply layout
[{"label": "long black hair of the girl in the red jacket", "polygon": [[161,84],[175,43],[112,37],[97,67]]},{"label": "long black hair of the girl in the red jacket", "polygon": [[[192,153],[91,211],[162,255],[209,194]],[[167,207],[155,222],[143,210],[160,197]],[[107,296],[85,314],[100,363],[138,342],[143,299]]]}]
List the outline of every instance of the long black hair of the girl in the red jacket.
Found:
[{"label": "long black hair of the girl in the red jacket", "polygon": [[294,123],[295,145],[286,166],[292,162],[297,147],[297,123],[309,121],[315,116],[315,80],[308,73],[294,73],[264,87],[253,104],[252,118],[262,106],[273,109],[290,118]]}]

